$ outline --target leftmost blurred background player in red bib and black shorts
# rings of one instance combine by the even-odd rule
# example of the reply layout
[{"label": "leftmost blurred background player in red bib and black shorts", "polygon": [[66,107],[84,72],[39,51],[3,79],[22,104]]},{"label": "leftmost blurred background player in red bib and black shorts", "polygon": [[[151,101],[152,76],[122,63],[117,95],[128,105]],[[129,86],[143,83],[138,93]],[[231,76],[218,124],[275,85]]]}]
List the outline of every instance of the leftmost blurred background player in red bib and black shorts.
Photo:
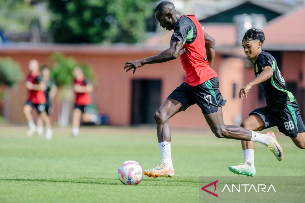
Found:
[{"label": "leftmost blurred background player in red bib and black shorts", "polygon": [[45,122],[46,132],[45,136],[47,139],[52,138],[52,128],[51,121],[45,112],[45,82],[42,81],[41,75],[39,73],[39,63],[37,60],[32,59],[29,62],[30,74],[27,77],[27,82],[25,86],[29,91],[29,97],[23,106],[23,114],[28,122],[29,130],[27,131],[27,136],[32,136],[36,131],[36,125],[33,120],[31,111],[33,107],[36,108],[38,116],[41,116],[42,120]]}]

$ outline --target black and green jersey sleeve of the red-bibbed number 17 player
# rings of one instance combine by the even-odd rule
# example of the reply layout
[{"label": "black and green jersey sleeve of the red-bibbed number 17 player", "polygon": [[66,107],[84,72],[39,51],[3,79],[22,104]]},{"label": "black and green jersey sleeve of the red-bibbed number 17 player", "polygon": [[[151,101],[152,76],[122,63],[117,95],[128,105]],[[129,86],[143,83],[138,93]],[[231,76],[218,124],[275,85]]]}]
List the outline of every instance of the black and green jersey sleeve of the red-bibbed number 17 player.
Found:
[{"label": "black and green jersey sleeve of the red-bibbed number 17 player", "polygon": [[170,40],[177,38],[183,44],[191,44],[196,37],[197,30],[193,21],[189,18],[180,18],[175,24],[174,33]]}]

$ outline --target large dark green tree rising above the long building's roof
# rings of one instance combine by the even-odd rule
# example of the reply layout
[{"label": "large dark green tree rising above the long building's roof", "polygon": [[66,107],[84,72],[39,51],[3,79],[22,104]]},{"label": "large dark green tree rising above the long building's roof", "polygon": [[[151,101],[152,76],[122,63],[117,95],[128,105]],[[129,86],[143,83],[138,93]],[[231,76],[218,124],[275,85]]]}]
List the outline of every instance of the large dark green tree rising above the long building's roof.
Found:
[{"label": "large dark green tree rising above the long building's roof", "polygon": [[156,0],[49,0],[51,31],[58,43],[135,43],[145,38],[145,20]]}]

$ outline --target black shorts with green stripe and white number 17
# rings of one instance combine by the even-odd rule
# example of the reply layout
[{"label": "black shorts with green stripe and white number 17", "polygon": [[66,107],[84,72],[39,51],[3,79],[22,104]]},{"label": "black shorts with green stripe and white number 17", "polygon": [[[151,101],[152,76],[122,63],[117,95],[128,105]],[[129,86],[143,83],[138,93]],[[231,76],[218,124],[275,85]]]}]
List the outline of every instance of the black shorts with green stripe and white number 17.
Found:
[{"label": "black shorts with green stripe and white number 17", "polygon": [[196,103],[203,114],[210,114],[218,111],[218,107],[226,104],[218,86],[218,77],[209,79],[195,87],[182,82],[167,98],[180,101],[183,103],[185,110]]}]

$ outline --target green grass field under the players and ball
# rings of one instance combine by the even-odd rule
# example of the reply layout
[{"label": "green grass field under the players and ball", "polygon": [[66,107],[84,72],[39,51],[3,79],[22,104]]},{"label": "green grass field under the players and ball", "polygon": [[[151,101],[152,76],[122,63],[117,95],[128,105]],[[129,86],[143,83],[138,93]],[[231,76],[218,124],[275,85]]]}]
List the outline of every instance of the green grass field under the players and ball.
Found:
[{"label": "green grass field under the players and ball", "polygon": [[[71,138],[70,129],[56,128],[50,141],[27,138],[25,131],[0,126],[1,203],[198,202],[199,176],[234,176],[228,166],[243,162],[240,141],[210,131],[173,131],[175,176],[144,177],[138,186],[126,186],[117,177],[122,162],[135,160],[144,169],[160,162],[155,129],[81,128]],[[257,176],[305,176],[305,150],[279,133],[278,141],[285,151],[281,162],[257,144]]]}]

